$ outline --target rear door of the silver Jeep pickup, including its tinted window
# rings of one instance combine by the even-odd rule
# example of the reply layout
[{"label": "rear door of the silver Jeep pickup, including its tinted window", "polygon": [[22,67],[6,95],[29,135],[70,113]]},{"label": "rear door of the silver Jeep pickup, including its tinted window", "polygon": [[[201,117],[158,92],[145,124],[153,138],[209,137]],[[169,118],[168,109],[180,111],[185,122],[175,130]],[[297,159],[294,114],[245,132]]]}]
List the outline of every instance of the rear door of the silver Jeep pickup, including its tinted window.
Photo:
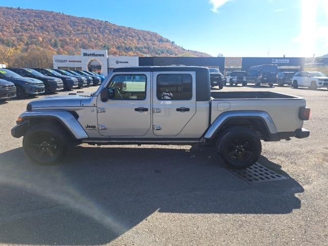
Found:
[{"label": "rear door of the silver Jeep pickup, including its tinted window", "polygon": [[153,133],[177,136],[196,113],[195,72],[154,72]]}]

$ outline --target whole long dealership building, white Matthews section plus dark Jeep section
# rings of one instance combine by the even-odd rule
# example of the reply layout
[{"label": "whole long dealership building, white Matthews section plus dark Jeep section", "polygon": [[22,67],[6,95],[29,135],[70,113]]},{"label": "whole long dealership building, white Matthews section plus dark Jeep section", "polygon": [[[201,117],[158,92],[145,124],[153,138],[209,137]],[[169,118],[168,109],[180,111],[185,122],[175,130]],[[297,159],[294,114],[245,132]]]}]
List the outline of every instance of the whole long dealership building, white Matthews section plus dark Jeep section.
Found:
[{"label": "whole long dealership building, white Matthews section plus dark Jeep section", "polygon": [[53,55],[55,69],[86,70],[107,75],[114,68],[186,65],[218,67],[228,71],[248,71],[250,67],[273,64],[279,71],[302,71],[304,57],[138,57],[109,56],[107,50],[81,50],[80,55]]}]

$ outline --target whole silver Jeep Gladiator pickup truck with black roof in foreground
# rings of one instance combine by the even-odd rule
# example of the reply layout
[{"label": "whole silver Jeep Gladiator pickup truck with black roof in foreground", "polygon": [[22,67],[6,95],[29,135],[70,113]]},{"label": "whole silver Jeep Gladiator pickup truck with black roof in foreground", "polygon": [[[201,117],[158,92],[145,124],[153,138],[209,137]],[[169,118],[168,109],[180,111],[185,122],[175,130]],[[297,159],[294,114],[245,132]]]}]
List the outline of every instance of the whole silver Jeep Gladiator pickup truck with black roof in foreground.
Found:
[{"label": "whole silver Jeep Gladiator pickup truck with black roof in foreground", "polygon": [[34,100],[11,130],[27,156],[50,165],[70,145],[214,145],[229,167],[246,168],[261,141],[305,138],[303,98],[274,92],[211,92],[204,67],[117,68],[91,95]]}]

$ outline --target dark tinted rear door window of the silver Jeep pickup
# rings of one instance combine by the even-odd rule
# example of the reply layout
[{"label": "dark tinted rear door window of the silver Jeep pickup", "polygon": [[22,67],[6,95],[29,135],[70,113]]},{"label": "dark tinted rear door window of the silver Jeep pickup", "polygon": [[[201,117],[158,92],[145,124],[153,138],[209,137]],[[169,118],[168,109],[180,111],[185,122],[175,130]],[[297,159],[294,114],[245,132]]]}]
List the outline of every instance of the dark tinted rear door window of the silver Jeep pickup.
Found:
[{"label": "dark tinted rear door window of the silver Jeep pickup", "polygon": [[156,88],[158,100],[190,100],[191,74],[158,74]]}]

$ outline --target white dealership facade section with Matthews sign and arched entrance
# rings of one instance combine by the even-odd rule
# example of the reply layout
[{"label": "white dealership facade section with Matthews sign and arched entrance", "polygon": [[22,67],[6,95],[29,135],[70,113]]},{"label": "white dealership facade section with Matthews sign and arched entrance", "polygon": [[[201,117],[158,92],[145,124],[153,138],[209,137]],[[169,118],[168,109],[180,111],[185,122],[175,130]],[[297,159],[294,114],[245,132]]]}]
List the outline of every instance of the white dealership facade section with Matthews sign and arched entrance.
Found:
[{"label": "white dealership facade section with Matthews sign and arched entrance", "polygon": [[108,56],[107,50],[81,49],[80,55],[53,55],[53,68],[85,70],[106,76],[114,68],[139,66],[138,56]]}]

